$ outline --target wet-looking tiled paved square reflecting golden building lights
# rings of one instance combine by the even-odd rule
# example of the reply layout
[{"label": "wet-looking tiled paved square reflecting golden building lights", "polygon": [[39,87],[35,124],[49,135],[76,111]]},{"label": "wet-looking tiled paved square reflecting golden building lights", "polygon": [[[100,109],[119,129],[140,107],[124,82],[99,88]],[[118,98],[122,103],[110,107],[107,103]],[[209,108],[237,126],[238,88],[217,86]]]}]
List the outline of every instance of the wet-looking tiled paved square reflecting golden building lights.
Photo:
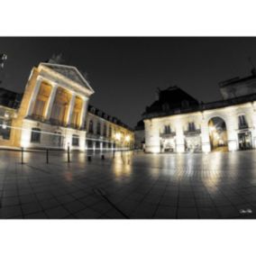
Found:
[{"label": "wet-looking tiled paved square reflecting golden building lights", "polygon": [[0,217],[256,218],[256,151],[45,154],[0,151]]}]

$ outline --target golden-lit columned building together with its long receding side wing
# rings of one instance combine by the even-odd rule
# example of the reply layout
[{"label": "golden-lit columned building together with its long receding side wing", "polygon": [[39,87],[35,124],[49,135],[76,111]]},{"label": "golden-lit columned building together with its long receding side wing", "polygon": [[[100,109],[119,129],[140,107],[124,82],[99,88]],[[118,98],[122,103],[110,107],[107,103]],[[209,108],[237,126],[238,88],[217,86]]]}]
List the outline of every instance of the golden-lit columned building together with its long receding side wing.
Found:
[{"label": "golden-lit columned building together with its long receding side wing", "polygon": [[[95,150],[98,143],[101,149],[113,149],[121,142],[122,147],[131,146],[133,131],[128,126],[88,105],[94,93],[75,67],[40,63],[32,69],[8,125],[1,125],[10,134],[0,146],[80,151],[87,150],[90,143]],[[91,133],[91,121],[95,133]]]}]

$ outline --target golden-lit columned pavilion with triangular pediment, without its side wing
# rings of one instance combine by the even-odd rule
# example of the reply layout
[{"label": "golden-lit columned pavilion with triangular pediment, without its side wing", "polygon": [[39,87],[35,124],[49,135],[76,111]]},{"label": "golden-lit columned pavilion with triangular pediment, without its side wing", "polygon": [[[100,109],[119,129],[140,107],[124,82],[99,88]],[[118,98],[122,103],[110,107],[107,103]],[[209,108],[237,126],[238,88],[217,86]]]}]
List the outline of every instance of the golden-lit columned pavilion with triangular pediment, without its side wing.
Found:
[{"label": "golden-lit columned pavilion with triangular pediment, without its side wing", "polygon": [[87,104],[93,93],[75,67],[40,63],[32,69],[13,120],[14,145],[85,148]]}]

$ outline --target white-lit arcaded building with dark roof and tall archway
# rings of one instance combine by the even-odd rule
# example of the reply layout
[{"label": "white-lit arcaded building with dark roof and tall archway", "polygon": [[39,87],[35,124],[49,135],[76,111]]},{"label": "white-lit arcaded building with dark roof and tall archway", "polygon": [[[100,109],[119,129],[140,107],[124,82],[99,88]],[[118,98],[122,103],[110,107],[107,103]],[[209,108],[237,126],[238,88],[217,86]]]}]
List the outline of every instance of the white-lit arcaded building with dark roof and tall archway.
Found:
[{"label": "white-lit arcaded building with dark roof and tall archway", "polygon": [[[202,103],[178,87],[158,92],[146,108],[146,152],[256,148],[256,72],[220,83],[223,100]],[[235,94],[234,94],[235,93]]]}]

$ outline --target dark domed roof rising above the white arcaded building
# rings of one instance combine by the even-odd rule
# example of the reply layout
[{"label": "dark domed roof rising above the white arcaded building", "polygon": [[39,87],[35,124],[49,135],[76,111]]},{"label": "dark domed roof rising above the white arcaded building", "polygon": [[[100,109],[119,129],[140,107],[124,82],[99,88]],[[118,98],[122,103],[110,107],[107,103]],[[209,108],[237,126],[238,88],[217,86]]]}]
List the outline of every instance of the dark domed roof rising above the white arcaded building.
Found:
[{"label": "dark domed roof rising above the white arcaded building", "polygon": [[186,108],[199,105],[197,99],[188,95],[179,87],[168,87],[158,91],[158,99],[146,107],[146,114],[169,111],[176,108]]}]

